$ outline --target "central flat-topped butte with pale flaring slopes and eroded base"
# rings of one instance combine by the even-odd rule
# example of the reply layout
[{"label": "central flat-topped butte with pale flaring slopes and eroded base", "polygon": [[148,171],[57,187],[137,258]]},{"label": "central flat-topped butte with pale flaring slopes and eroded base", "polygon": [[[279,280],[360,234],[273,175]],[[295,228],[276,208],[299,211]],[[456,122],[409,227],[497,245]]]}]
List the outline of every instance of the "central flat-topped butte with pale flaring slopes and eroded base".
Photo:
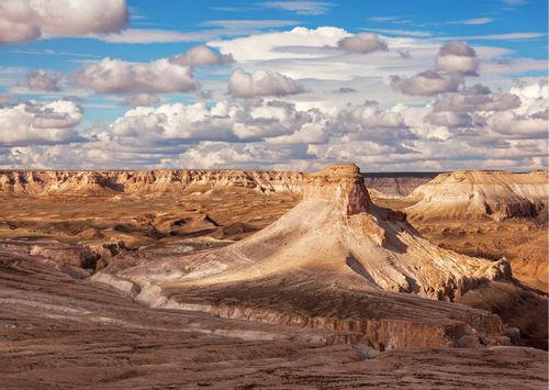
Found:
[{"label": "central flat-topped butte with pale flaring slopes and eroded base", "polygon": [[152,307],[352,331],[334,342],[384,349],[505,342],[496,316],[394,292],[452,300],[509,277],[505,260],[421,238],[403,213],[374,207],[358,168],[344,165],[307,175],[303,201],[240,242],[183,257],[120,258],[93,279]]}]

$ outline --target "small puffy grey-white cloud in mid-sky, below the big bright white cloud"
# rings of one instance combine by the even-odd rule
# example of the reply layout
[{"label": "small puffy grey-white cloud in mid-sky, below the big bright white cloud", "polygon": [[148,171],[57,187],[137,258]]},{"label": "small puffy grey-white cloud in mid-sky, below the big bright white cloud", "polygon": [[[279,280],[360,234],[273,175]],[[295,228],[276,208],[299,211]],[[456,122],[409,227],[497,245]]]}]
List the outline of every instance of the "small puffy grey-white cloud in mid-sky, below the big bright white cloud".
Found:
[{"label": "small puffy grey-white cloud in mid-sky, below the big bright white cloud", "polygon": [[236,98],[281,97],[304,91],[305,87],[278,71],[257,70],[247,74],[236,69],[228,78],[228,92]]}]

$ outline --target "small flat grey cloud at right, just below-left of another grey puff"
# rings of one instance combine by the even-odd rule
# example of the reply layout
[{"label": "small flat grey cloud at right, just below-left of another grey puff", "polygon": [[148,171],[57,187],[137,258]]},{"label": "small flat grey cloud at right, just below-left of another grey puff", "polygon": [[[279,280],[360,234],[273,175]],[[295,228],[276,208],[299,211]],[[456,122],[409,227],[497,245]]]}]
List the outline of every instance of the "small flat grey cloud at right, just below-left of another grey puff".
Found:
[{"label": "small flat grey cloud at right, just below-left of another grey puff", "polygon": [[391,77],[391,86],[405,94],[435,96],[444,92],[456,92],[462,77],[459,75],[442,74],[435,70],[425,70],[411,78]]}]

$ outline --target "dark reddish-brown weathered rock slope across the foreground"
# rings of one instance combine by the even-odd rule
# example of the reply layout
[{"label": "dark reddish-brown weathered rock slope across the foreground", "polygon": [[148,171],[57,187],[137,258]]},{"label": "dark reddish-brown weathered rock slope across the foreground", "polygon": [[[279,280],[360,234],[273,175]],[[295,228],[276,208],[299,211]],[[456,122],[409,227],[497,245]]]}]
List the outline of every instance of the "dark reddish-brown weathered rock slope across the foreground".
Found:
[{"label": "dark reddish-brown weathered rock slope across the foreground", "polygon": [[2,245],[0,330],[5,389],[547,387],[545,350],[326,345],[343,333],[145,308]]}]

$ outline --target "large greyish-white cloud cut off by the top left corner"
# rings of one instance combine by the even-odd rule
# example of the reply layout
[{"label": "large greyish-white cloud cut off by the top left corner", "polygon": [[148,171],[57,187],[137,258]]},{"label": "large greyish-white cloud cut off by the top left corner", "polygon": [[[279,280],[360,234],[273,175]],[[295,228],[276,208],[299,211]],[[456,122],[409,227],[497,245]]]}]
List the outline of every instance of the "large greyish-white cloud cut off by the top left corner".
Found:
[{"label": "large greyish-white cloud cut off by the top left corner", "polygon": [[111,33],[127,20],[125,0],[2,0],[0,43]]}]

